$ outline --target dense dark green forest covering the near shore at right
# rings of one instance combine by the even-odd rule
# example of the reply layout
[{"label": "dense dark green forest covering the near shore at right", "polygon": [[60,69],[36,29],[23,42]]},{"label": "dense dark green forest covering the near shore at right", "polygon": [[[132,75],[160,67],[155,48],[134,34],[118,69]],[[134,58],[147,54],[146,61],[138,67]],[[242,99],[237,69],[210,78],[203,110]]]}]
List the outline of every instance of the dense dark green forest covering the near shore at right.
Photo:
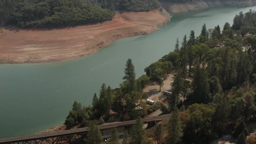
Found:
[{"label": "dense dark green forest covering the near shore at right", "polygon": [[[199,36],[192,30],[181,45],[177,39],[174,52],[146,67],[146,75],[138,79],[128,59],[120,88],[103,84],[99,97],[95,94],[88,107],[75,101],[65,121],[67,128],[89,126],[84,141],[98,144],[102,136],[97,124],[136,119],[125,131],[123,144],[151,144],[148,137],[158,144],[209,144],[224,134],[232,134],[237,144],[249,143],[246,136],[254,128],[246,123],[256,122],[256,36],[254,30],[243,32],[243,27],[255,29],[255,16],[251,10],[240,13],[233,26],[225,23],[222,30],[220,26],[207,29],[203,24]],[[170,73],[174,73],[174,81],[168,106],[161,101],[150,106],[141,101],[148,98],[142,89],[149,81],[158,82],[161,88],[162,78]],[[171,113],[170,121],[146,134],[141,118],[157,109]],[[120,143],[115,128],[111,137],[112,143]]]}]

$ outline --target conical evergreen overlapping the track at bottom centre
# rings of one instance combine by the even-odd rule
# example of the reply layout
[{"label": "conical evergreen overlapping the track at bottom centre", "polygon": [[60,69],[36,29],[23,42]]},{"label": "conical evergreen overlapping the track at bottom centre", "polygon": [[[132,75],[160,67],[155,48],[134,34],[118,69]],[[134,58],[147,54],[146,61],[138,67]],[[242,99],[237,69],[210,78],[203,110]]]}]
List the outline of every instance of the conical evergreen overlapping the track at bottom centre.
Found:
[{"label": "conical evergreen overlapping the track at bottom centre", "polygon": [[143,122],[139,116],[131,128],[131,141],[133,144],[143,144],[146,137],[146,130],[143,128]]}]

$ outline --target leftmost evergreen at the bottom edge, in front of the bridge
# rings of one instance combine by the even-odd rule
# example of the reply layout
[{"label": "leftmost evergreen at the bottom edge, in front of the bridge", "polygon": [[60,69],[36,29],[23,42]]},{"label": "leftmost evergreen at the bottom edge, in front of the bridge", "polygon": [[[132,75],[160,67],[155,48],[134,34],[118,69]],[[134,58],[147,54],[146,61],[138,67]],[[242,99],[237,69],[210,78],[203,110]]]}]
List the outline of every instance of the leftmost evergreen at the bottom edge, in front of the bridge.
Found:
[{"label": "leftmost evergreen at the bottom edge, in front of the bridge", "polygon": [[103,141],[102,134],[93,121],[89,124],[89,131],[86,136],[86,144],[100,144]]}]

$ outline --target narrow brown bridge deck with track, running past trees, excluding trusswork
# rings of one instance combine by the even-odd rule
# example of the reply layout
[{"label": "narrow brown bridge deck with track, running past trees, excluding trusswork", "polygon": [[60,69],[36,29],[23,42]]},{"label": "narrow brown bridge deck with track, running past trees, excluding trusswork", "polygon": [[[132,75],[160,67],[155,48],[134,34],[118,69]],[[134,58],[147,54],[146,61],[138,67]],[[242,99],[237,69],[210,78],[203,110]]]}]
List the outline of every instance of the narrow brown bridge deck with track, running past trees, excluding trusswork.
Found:
[{"label": "narrow brown bridge deck with track, running past trees, excluding trusswork", "polygon": [[[170,118],[170,114],[168,115],[160,115],[157,117],[149,117],[149,118],[143,118],[143,122],[150,122],[150,121],[161,121],[161,120],[167,120]],[[112,123],[105,123],[102,125],[99,125],[98,128],[100,130],[109,129],[109,128],[117,128],[122,127],[125,125],[131,125],[134,124],[135,120],[132,121],[122,121],[122,122],[112,122]],[[11,138],[4,138],[0,139],[0,144],[6,144],[6,143],[14,143],[14,142],[21,142],[21,141],[31,141],[31,140],[37,140],[42,138],[50,138],[50,137],[58,137],[58,136],[64,136],[64,135],[71,135],[71,134],[79,134],[88,131],[88,127],[86,128],[77,128],[72,130],[66,130],[66,131],[56,131],[46,134],[35,134],[30,136],[22,136],[22,137],[11,137]]]}]

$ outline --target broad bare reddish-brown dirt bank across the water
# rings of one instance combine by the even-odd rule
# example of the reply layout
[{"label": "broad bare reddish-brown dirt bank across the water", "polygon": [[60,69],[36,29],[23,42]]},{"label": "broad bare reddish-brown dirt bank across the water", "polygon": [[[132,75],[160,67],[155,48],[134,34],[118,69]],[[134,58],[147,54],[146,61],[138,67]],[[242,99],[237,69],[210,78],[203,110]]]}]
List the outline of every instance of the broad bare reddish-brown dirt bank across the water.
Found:
[{"label": "broad bare reddish-brown dirt bank across the water", "polygon": [[85,56],[111,42],[144,35],[168,22],[164,9],[118,13],[111,21],[53,30],[3,29],[0,33],[0,63],[57,62]]}]

